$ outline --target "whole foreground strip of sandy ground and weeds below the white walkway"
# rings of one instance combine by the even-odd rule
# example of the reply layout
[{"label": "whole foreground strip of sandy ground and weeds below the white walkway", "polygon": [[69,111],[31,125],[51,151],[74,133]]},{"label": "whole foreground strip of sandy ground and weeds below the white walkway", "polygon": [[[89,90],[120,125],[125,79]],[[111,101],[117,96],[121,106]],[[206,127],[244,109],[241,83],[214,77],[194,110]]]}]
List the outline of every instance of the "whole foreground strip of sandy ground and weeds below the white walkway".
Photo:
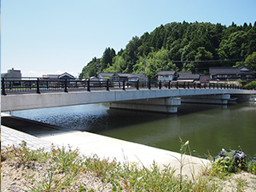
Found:
[{"label": "whole foreground strip of sandy ground and weeds below the white walkway", "polygon": [[[163,170],[137,163],[100,159],[79,154],[78,149],[31,150],[2,147],[2,191],[255,191],[256,164],[215,160],[202,167],[201,174],[183,176],[183,154],[190,154],[189,142],[181,140],[180,172],[171,166]],[[211,156],[209,156],[211,157]],[[235,166],[242,164],[243,166]]]}]

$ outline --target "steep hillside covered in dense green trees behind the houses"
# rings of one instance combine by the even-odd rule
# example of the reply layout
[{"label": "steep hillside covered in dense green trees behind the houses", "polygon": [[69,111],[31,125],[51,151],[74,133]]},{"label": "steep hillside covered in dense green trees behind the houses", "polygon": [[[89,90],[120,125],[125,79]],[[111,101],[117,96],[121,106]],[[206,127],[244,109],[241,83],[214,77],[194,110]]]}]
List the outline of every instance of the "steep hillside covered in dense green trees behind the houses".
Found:
[{"label": "steep hillside covered in dense green trees behind the houses", "polygon": [[[255,53],[253,53],[255,52]],[[161,70],[208,73],[209,67],[247,65],[256,70],[256,21],[252,25],[172,22],[133,37],[118,53],[105,49],[92,59],[79,78],[97,73],[146,73],[154,79]],[[254,63],[252,63],[253,61]]]}]

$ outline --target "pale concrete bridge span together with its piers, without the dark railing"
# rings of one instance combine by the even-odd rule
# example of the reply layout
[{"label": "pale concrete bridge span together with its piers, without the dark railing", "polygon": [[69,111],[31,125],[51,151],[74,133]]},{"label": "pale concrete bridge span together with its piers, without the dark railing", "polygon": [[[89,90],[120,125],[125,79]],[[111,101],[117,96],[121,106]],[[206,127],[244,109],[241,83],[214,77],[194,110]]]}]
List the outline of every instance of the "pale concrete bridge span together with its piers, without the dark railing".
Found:
[{"label": "pale concrete bridge span together with its piers, without the dark railing", "polygon": [[[125,86],[124,86],[125,88]],[[113,90],[73,90],[63,92],[45,92],[9,94],[1,96],[2,111],[26,110],[33,108],[54,108],[70,105],[109,102],[110,108],[177,113],[181,102],[215,103],[226,105],[236,97],[242,101],[256,101],[256,90],[236,90],[217,88],[197,88],[197,86],[149,89],[113,89]]]}]

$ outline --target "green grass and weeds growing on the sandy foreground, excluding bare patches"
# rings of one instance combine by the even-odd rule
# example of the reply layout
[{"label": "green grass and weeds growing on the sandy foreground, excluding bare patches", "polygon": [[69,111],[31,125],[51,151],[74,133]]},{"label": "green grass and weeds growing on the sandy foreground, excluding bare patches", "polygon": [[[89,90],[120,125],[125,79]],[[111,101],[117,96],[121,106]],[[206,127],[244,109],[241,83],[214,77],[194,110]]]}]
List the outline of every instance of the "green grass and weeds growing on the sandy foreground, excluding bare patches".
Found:
[{"label": "green grass and weeds growing on the sandy foreground, excluding bare patches", "polygon": [[[251,172],[256,174],[255,163],[245,162],[246,166],[234,168],[234,162],[216,160],[211,167],[205,168],[199,176],[192,178],[183,176],[183,154],[190,154],[189,142],[181,140],[180,172],[171,166],[161,169],[154,162],[150,168],[139,166],[135,162],[120,163],[117,160],[101,159],[96,154],[84,157],[78,149],[52,147],[49,152],[44,149],[31,150],[26,143],[20,147],[8,147],[4,150],[3,158],[15,160],[15,166],[21,169],[33,170],[35,162],[49,164],[47,174],[36,179],[34,174],[24,174],[23,177],[30,181],[26,187],[31,191],[62,191],[71,189],[83,173],[93,172],[103,185],[111,185],[112,191],[221,191],[221,179],[229,176],[231,172]],[[219,180],[220,179],[220,180]],[[220,181],[220,182],[216,182]],[[236,179],[237,191],[244,190],[247,182]],[[75,191],[94,191],[85,183],[76,185]],[[96,191],[100,191],[96,190]]]}]

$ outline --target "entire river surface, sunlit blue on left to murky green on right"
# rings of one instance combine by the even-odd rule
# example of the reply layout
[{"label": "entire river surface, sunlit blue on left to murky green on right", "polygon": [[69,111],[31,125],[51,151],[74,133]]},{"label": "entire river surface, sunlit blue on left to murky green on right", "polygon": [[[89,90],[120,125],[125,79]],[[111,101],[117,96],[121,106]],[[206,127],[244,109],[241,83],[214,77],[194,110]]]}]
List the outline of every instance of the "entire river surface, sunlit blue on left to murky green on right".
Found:
[{"label": "entire river surface, sunlit blue on left to murky green on right", "polygon": [[176,152],[182,138],[202,158],[215,156],[222,148],[241,148],[247,156],[256,156],[256,102],[226,107],[182,104],[177,114],[111,109],[102,103],[15,111],[14,115]]}]

